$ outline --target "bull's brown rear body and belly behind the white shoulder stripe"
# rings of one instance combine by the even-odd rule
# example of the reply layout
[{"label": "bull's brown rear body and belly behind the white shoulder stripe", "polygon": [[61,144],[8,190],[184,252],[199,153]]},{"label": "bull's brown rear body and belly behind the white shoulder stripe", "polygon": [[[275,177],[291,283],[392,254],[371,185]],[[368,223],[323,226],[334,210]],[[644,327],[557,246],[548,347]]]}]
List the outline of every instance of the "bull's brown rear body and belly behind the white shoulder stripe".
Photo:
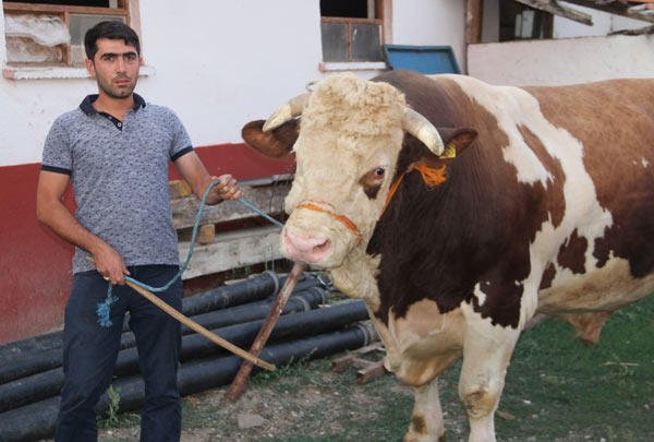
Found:
[{"label": "bull's brown rear body and belly behind the white shoulder stripe", "polygon": [[[553,126],[581,143],[594,198],[610,219],[592,243],[583,243],[582,229],[595,219],[578,220],[579,231],[553,260],[568,277],[559,275],[544,287],[541,310],[613,310],[649,295],[654,290],[654,81],[525,89]],[[568,199],[566,208],[572,211],[574,203]],[[594,265],[583,259],[590,258],[582,255],[588,249]]]}]

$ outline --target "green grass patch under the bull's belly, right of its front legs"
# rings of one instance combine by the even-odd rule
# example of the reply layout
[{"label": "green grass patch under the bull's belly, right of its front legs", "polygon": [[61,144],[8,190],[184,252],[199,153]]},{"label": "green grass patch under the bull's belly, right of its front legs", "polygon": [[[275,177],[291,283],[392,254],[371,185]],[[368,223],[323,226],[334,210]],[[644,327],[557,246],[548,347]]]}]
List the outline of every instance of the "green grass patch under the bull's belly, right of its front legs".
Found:
[{"label": "green grass patch under the bull's belly, right of its front legs", "polygon": [[496,419],[498,439],[654,441],[654,297],[616,312],[600,343],[547,321],[518,343]]}]

